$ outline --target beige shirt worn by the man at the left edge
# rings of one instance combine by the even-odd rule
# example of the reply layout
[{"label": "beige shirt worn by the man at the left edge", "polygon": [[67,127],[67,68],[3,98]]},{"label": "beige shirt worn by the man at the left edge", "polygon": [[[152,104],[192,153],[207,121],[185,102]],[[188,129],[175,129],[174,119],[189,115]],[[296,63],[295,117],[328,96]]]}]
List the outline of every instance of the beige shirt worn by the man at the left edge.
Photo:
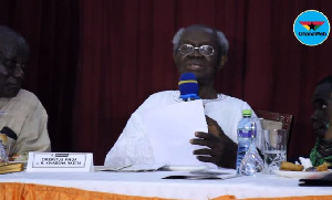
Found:
[{"label": "beige shirt worn by the man at the left edge", "polygon": [[0,130],[7,126],[18,136],[9,138],[10,155],[29,151],[50,151],[51,141],[48,133],[48,114],[38,97],[25,90],[20,90],[12,98],[0,98]]}]

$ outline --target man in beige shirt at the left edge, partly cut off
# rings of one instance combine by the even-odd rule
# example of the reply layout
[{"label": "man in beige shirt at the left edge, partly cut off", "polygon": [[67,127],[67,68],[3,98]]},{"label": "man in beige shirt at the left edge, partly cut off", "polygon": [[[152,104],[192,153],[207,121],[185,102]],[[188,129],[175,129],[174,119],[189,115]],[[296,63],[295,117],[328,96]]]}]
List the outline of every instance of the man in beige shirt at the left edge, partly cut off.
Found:
[{"label": "man in beige shirt at the left edge, partly cut off", "polygon": [[38,97],[21,88],[29,45],[12,29],[0,25],[0,130],[9,155],[50,151],[48,114]]}]

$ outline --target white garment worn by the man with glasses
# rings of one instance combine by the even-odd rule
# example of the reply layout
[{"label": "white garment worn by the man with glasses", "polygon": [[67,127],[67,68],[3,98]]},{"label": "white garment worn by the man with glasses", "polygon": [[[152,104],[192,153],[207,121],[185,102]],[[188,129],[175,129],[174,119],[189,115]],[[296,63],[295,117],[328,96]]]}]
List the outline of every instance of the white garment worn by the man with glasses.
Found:
[{"label": "white garment worn by the man with glasses", "polygon": [[[105,166],[120,168],[137,164],[154,164],[153,149],[142,122],[143,113],[146,109],[179,102],[183,102],[179,98],[179,91],[165,91],[151,95],[131,116],[123,133],[108,151]],[[203,102],[205,114],[215,119],[224,133],[237,143],[237,126],[242,117],[242,109],[251,109],[250,106],[241,99],[224,94],[219,94],[216,99],[203,99]],[[256,114],[253,113],[252,116],[256,117]],[[260,138],[257,139],[257,147],[261,147]]]}]

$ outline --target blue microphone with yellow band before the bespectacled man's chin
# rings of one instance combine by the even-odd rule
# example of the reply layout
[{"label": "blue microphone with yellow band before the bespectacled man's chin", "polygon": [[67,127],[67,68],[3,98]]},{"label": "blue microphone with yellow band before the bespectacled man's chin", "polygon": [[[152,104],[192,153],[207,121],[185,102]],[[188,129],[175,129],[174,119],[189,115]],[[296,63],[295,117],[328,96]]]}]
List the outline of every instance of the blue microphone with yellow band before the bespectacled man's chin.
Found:
[{"label": "blue microphone with yellow band before the bespectacled man's chin", "polygon": [[180,91],[180,98],[185,102],[199,99],[198,83],[194,73],[183,73],[180,75],[178,87]]}]

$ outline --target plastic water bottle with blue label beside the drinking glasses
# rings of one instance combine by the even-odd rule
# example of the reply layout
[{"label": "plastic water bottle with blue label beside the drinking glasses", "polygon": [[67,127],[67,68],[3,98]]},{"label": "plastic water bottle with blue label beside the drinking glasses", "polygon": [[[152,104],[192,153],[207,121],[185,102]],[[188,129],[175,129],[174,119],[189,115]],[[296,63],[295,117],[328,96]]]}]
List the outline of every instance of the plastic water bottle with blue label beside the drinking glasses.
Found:
[{"label": "plastic water bottle with blue label beside the drinking glasses", "polygon": [[[239,169],[240,164],[246,152],[248,151],[251,143],[256,141],[256,123],[251,119],[251,109],[243,109],[242,119],[238,124],[237,173],[241,173]],[[255,170],[255,166],[252,166],[252,170]],[[253,172],[256,172],[256,170]]]}]

